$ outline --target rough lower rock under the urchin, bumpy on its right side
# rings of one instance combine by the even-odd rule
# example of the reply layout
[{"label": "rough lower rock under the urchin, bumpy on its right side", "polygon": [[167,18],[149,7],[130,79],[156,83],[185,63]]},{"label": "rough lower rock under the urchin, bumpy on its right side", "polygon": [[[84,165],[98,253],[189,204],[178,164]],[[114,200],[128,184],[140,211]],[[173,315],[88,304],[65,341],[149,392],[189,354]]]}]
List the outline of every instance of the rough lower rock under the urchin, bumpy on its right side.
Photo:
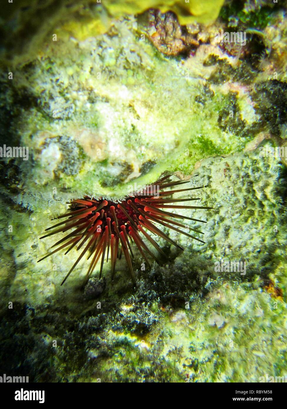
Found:
[{"label": "rough lower rock under the urchin, bumpy on its right side", "polygon": [[[93,279],[85,294],[80,285],[86,262],[60,287],[70,258],[55,254],[43,268],[33,256],[43,254],[42,244],[33,246],[38,243],[36,232],[42,229],[43,216],[23,213],[20,219],[11,212],[18,224],[7,235],[11,241],[6,239],[5,250],[8,253],[17,243],[16,277],[11,282],[10,275],[9,279],[1,275],[1,287],[9,286],[5,300],[14,303],[17,324],[6,327],[5,337],[17,331],[13,345],[18,354],[23,348],[29,351],[25,368],[31,379],[258,382],[265,373],[284,375],[287,252],[282,164],[271,157],[262,160],[258,149],[202,161],[197,173],[191,186],[208,184],[201,202],[213,209],[207,214],[185,212],[207,218],[206,244],[170,233],[185,251],[171,248],[169,262],[143,271],[136,254],[136,290],[124,262],[118,265],[113,282],[107,264],[105,283]],[[35,235],[27,241],[24,225],[32,220]],[[163,240],[158,243],[167,251]],[[245,262],[246,274],[240,269],[218,272],[221,259]],[[20,308],[21,304],[26,307]],[[5,313],[2,319],[5,325],[11,315]],[[39,327],[41,334],[32,335]],[[7,349],[3,353],[9,356]],[[5,365],[17,373],[18,359],[14,355]],[[47,372],[51,362],[53,370]]]}]

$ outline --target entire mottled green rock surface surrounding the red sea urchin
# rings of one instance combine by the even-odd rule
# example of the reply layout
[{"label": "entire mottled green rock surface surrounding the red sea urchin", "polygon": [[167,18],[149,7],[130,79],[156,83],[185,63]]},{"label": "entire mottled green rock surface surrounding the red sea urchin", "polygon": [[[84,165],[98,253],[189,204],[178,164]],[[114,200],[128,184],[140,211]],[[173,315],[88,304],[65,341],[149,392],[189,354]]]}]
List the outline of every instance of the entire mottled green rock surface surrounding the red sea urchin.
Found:
[{"label": "entire mottled green rock surface surrounding the red sea urchin", "polygon": [[[197,10],[190,0],[183,16],[178,3],[106,2],[83,6],[81,18],[75,5],[64,20],[57,9],[53,32],[35,21],[11,65],[11,38],[1,50],[1,146],[29,147],[29,160],[0,162],[3,373],[30,382],[286,375],[287,163],[262,155],[287,146],[284,9],[206,1]],[[246,45],[217,43],[221,29],[246,30]],[[150,269],[135,252],[136,288],[124,259],[113,281],[110,261],[102,279],[97,266],[85,290],[86,258],[60,285],[75,249],[37,263],[55,241],[39,237],[68,200],[121,199],[163,172],[204,187],[185,197],[213,209],[180,212],[207,221],[189,222],[205,244],[163,228],[184,251],[157,236],[169,259]]]}]

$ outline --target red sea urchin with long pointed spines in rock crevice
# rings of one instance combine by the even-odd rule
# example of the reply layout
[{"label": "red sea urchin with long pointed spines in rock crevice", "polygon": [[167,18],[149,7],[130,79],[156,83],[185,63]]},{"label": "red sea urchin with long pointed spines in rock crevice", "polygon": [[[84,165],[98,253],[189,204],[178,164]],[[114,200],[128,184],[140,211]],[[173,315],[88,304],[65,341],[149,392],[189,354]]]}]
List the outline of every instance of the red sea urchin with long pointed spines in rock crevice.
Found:
[{"label": "red sea urchin with long pointed spines in rock crevice", "polygon": [[[190,198],[190,199],[172,199],[170,196],[173,193],[185,192],[194,189],[202,189],[202,187],[194,187],[188,189],[177,189],[171,191],[164,191],[163,189],[168,187],[178,186],[180,184],[188,182],[171,182],[170,175],[164,176],[163,178],[157,180],[153,186],[158,187],[158,194],[154,196],[154,191],[149,189],[149,194],[147,194],[147,189],[142,189],[138,192],[138,196],[129,196],[128,198],[120,201],[113,202],[111,200],[99,200],[95,198],[90,198],[84,196],[82,199],[72,200],[70,202],[70,211],[65,213],[57,218],[67,217],[68,220],[59,222],[56,225],[49,227],[47,230],[54,229],[51,233],[45,234],[41,238],[51,236],[59,232],[66,232],[70,229],[72,230],[67,236],[57,241],[52,247],[57,247],[51,253],[48,253],[46,256],[41,258],[39,261],[44,258],[58,252],[59,250],[68,247],[68,250],[65,252],[67,254],[73,247],[77,245],[77,250],[83,250],[74,265],[66,275],[62,284],[66,281],[68,276],[74,270],[76,265],[79,263],[81,258],[90,250],[88,258],[92,258],[90,267],[86,274],[84,285],[87,283],[90,276],[93,274],[95,266],[101,257],[101,266],[99,272],[99,278],[102,276],[102,269],[104,265],[105,254],[107,254],[106,261],[108,261],[108,254],[111,253],[111,271],[112,279],[115,274],[115,263],[118,257],[124,254],[124,257],[129,266],[129,272],[133,283],[136,283],[135,275],[133,272],[131,258],[133,258],[133,252],[131,248],[131,241],[136,245],[140,254],[149,265],[149,260],[147,254],[151,256],[157,263],[159,263],[158,258],[150,251],[146,243],[142,240],[140,233],[155,247],[155,249],[163,254],[166,257],[163,250],[158,246],[154,239],[150,236],[150,233],[154,233],[157,236],[164,238],[169,241],[176,247],[179,246],[174,240],[169,238],[163,231],[161,231],[154,224],[159,223],[169,229],[179,231],[194,240],[198,240],[201,243],[204,243],[203,240],[200,240],[197,237],[192,236],[185,231],[178,229],[177,227],[185,228],[186,226],[170,220],[170,218],[176,219],[188,219],[194,220],[197,222],[203,222],[203,220],[194,219],[187,216],[181,216],[175,213],[170,213],[165,209],[211,209],[211,207],[202,207],[202,206],[185,206],[185,205],[174,205],[176,202],[184,202],[188,200],[198,200],[199,198]],[[153,193],[151,193],[151,191]],[[146,194],[144,194],[146,193]],[[201,231],[192,229],[197,233],[203,234]],[[62,244],[63,243],[63,244]],[[62,285],[61,284],[61,285]]]}]

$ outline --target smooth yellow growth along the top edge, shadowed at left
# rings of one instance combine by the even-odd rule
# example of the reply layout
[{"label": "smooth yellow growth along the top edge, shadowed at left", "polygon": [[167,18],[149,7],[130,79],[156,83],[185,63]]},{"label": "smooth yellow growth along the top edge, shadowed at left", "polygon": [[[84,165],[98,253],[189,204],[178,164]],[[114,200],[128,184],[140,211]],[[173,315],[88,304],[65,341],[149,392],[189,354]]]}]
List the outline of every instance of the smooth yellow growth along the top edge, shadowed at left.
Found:
[{"label": "smooth yellow growth along the top edge, shadowed at left", "polygon": [[[29,2],[27,0],[6,2],[1,9],[1,28],[6,34],[5,45],[8,55],[17,60],[16,54],[29,58],[35,49],[41,49],[41,43],[47,34],[61,33],[72,35],[79,40],[106,32],[113,20],[130,15],[134,16],[148,9],[159,9],[163,13],[173,11],[181,24],[194,21],[213,22],[224,0],[64,0],[57,2]],[[11,28],[13,32],[11,33]],[[10,31],[10,32],[9,32]],[[25,36],[21,35],[25,32]],[[16,44],[15,44],[16,43]],[[14,54],[14,55],[13,55]]]}]

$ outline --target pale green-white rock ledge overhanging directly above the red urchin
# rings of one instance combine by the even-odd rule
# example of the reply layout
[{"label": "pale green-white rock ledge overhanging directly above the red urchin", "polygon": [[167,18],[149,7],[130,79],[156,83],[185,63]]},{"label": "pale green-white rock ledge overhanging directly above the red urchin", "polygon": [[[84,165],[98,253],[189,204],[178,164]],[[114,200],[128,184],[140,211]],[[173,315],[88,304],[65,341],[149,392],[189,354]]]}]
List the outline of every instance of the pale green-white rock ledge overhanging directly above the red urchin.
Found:
[{"label": "pale green-white rock ledge overhanging directly above the red urchin", "polygon": [[203,46],[183,66],[158,54],[137,27],[130,19],[84,41],[58,38],[14,74],[12,91],[27,103],[11,96],[9,104],[18,111],[14,135],[32,157],[20,164],[32,193],[41,187],[49,198],[63,191],[123,195],[145,164],[154,172],[139,183],[153,182],[188,142],[195,163],[241,150],[255,134],[252,101],[249,119],[240,108],[248,95],[202,77],[212,49],[195,73]]}]

